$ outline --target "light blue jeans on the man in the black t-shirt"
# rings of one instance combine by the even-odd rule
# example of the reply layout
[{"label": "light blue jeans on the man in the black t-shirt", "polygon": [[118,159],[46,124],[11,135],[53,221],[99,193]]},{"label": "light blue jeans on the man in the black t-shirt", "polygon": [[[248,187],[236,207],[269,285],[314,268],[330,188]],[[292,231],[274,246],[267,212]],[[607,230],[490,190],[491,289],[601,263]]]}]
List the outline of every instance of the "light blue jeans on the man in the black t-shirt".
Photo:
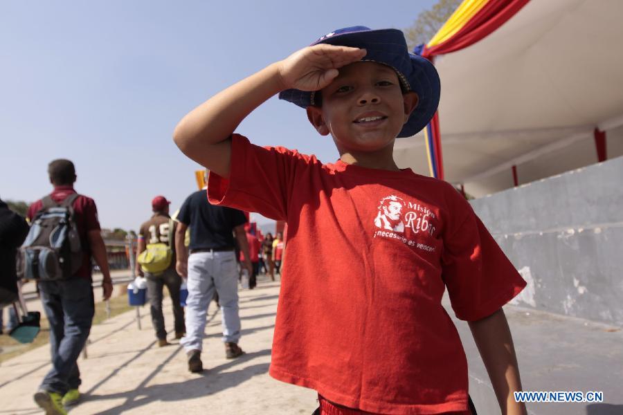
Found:
[{"label": "light blue jeans on the man in the black t-shirt", "polygon": [[180,340],[184,349],[187,352],[202,349],[206,313],[215,290],[222,311],[223,341],[237,343],[240,340],[240,315],[234,251],[190,254],[186,286],[186,336]]}]

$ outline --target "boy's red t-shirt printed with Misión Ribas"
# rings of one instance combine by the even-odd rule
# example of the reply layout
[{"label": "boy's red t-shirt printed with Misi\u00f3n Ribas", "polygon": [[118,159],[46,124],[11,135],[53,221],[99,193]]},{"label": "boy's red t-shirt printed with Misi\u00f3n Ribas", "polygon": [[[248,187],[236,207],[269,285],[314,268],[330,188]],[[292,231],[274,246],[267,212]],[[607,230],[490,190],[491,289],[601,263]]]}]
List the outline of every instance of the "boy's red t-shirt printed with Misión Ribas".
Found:
[{"label": "boy's red t-shirt printed with Misi\u00f3n Ribas", "polygon": [[525,282],[451,185],[235,134],[231,176],[210,173],[208,199],[288,223],[271,376],[366,412],[469,413],[444,289],[458,318],[479,320]]}]

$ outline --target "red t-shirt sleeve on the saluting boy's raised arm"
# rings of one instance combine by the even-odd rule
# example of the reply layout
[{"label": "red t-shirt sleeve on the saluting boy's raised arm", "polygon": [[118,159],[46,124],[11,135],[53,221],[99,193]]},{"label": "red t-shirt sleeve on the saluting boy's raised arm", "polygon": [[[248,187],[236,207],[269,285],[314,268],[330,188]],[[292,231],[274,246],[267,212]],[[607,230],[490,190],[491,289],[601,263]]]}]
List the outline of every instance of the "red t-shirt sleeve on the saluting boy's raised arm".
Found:
[{"label": "red t-shirt sleeve on the saluting boy's raised arm", "polygon": [[286,221],[289,195],[298,169],[309,157],[283,147],[260,147],[238,134],[231,138],[230,177],[210,172],[208,200],[213,205],[258,212]]}]

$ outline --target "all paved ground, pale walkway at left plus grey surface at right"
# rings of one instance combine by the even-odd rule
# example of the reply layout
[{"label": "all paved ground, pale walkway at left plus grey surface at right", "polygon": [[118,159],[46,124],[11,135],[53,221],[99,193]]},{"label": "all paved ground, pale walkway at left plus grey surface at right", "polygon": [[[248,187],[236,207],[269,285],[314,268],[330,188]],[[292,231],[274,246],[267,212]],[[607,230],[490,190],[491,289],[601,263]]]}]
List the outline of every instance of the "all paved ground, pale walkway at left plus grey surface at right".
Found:
[{"label": "all paved ground, pale walkway at left plus grey surface at right", "polygon": [[[156,346],[146,306],[141,308],[142,330],[138,330],[134,311],[94,326],[88,358],[80,358],[84,402],[71,413],[311,414],[316,405],[314,391],[278,382],[267,374],[278,292],[278,283],[263,278],[255,290],[240,291],[240,344],[248,353],[237,360],[224,358],[220,313],[210,305],[204,340],[208,371],[201,375],[188,373],[178,344]],[[171,328],[170,304],[166,309]],[[505,307],[505,312],[525,390],[604,392],[604,403],[532,404],[530,414],[623,414],[620,327],[514,306]],[[470,394],[478,413],[499,414],[469,328],[464,322],[455,320],[455,324],[467,353]],[[48,361],[48,347],[41,347],[3,363],[0,414],[40,413],[32,394],[48,370]]]}]

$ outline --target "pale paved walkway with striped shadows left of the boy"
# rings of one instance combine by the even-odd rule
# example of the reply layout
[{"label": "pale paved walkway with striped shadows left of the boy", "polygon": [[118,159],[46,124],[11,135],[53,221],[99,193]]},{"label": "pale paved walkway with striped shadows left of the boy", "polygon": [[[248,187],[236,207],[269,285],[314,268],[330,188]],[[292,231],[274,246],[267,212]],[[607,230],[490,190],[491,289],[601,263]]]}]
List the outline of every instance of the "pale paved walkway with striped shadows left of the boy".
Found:
[{"label": "pale paved walkway with striped shadows left of the boy", "polygon": [[[311,414],[316,394],[270,378],[267,374],[279,284],[260,281],[253,291],[240,292],[242,340],[247,352],[226,360],[221,318],[214,303],[208,310],[204,338],[204,374],[190,374],[177,341],[155,344],[149,308],[118,315],[93,326],[88,358],[79,360],[84,402],[71,414]],[[166,325],[172,331],[167,299]],[[0,414],[38,414],[32,399],[49,368],[48,347],[35,349],[0,367]],[[12,397],[7,399],[7,397]]]}]

